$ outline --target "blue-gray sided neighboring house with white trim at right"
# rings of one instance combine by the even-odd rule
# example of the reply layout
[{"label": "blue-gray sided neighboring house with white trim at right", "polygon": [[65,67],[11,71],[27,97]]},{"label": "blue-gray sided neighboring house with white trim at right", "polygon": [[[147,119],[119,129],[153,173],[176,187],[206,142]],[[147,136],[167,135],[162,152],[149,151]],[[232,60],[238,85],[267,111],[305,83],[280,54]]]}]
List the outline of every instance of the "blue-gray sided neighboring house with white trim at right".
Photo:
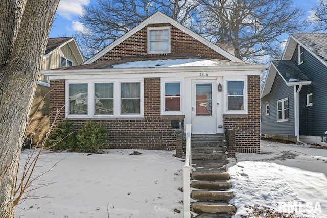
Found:
[{"label": "blue-gray sided neighboring house with white trim at right", "polygon": [[271,61],[261,92],[261,134],[317,143],[327,139],[327,33],[291,34]]}]

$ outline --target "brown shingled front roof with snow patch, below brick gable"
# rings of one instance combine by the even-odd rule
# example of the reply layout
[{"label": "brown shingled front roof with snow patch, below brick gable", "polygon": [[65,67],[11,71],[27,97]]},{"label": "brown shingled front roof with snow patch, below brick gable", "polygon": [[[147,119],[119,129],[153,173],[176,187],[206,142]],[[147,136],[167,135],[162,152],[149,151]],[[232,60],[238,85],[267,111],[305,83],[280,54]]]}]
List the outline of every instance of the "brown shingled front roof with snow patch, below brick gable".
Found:
[{"label": "brown shingled front roof with snow patch, below brick gable", "polygon": [[[125,57],[121,58],[118,60],[111,60],[111,61],[101,61],[101,62],[94,62],[90,64],[84,64],[80,66],[73,66],[73,67],[66,67],[66,68],[61,68],[61,70],[79,70],[79,69],[110,69],[114,68],[114,65],[118,64],[125,64],[125,63],[130,63],[134,61],[156,61],[156,60],[177,60],[177,59],[194,59],[194,61],[199,61],[198,57],[195,56],[130,56],[130,57]],[[225,61],[225,60],[217,60],[217,59],[204,59],[203,60],[211,60],[212,66],[256,66],[258,64],[250,64],[250,63],[241,63],[241,62],[236,62],[236,61]],[[127,68],[151,68],[151,66],[144,65],[143,67],[138,67],[135,66],[133,67],[132,64],[130,63]]]}]

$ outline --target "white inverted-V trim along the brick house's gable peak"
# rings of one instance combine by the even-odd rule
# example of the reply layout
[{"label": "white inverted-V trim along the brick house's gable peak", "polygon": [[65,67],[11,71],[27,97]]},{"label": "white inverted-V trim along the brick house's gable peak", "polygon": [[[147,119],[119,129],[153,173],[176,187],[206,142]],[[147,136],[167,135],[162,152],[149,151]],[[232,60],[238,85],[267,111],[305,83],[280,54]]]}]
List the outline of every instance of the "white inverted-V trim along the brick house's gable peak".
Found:
[{"label": "white inverted-V trim along the brick house's gable peak", "polygon": [[167,16],[166,14],[158,11],[158,12],[154,13],[153,15],[151,15],[150,17],[148,17],[147,19],[145,19],[143,22],[139,23],[139,25],[137,25],[136,27],[134,27],[133,29],[131,29],[130,31],[125,33],[123,36],[121,36],[120,38],[118,38],[117,40],[115,40],[114,42],[109,44],[108,46],[106,46],[103,50],[101,50],[100,52],[98,52],[97,54],[95,54],[94,56],[89,58],[88,60],[86,60],[83,64],[93,63],[94,61],[96,61],[97,59],[99,59],[100,57],[105,55],[107,52],[112,50],[115,46],[119,45],[120,43],[125,41],[127,38],[129,38],[130,36],[135,34],[137,31],[141,30],[142,28],[146,27],[149,24],[155,24],[155,23],[170,23],[177,29],[183,31],[184,33],[186,33],[186,34],[190,35],[191,37],[195,38],[196,40],[200,41],[201,43],[210,47],[212,50],[216,51],[217,53],[221,54],[222,56],[226,57],[227,59],[229,59],[231,61],[236,61],[236,62],[243,62],[242,60],[233,56],[229,52],[221,49],[219,46],[215,45],[214,43],[208,41],[207,39],[203,38],[202,36],[196,34],[195,32],[191,31],[190,29],[184,27],[176,20],[174,20],[174,19],[170,18],[169,16]]}]

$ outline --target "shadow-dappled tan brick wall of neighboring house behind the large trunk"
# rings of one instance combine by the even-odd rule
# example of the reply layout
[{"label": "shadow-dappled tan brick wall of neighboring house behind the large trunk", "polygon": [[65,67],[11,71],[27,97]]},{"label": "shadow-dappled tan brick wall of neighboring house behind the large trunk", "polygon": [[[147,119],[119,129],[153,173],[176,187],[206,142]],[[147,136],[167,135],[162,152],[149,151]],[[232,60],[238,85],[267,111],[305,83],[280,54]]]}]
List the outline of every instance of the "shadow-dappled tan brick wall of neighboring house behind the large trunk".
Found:
[{"label": "shadow-dappled tan brick wall of neighboring house behind the large trunk", "polygon": [[27,134],[34,132],[33,144],[49,131],[49,87],[37,85],[30,112]]}]

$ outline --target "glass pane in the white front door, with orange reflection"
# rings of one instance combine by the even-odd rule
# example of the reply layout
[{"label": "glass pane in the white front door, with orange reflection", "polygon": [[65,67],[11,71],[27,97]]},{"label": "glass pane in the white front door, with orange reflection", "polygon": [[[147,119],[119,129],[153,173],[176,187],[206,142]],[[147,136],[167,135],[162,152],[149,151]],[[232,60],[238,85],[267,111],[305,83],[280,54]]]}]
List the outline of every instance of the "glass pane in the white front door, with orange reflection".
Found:
[{"label": "glass pane in the white front door, with orange reflection", "polygon": [[196,115],[212,115],[212,84],[195,84]]}]

